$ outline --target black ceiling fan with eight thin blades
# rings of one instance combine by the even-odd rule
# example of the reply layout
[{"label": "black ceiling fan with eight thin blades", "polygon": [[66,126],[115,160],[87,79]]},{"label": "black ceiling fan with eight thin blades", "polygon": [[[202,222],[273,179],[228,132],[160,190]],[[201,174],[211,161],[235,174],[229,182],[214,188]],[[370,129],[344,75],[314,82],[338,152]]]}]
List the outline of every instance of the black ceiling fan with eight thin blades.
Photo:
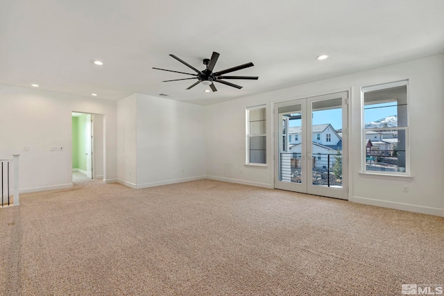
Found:
[{"label": "black ceiling fan with eight thin blades", "polygon": [[202,82],[203,85],[210,85],[210,88],[212,89],[213,92],[217,92],[217,89],[214,86],[214,82],[219,82],[219,83],[222,83],[224,85],[229,85],[230,87],[236,87],[237,89],[241,89],[242,87],[240,85],[235,85],[234,83],[225,81],[224,79],[257,80],[257,78],[259,78],[257,76],[223,76],[223,74],[226,74],[226,73],[238,71],[238,70],[245,69],[245,68],[248,68],[248,67],[253,67],[254,64],[252,62],[248,62],[246,64],[241,64],[239,66],[232,67],[230,69],[225,69],[225,70],[222,70],[222,71],[213,72],[214,65],[216,64],[217,59],[219,58],[219,53],[216,53],[215,51],[213,51],[211,59],[203,59],[203,64],[205,64],[205,66],[206,66],[206,68],[203,71],[199,71],[198,69],[196,69],[193,66],[191,66],[191,64],[188,64],[187,62],[185,62],[183,60],[180,60],[180,58],[176,57],[176,55],[170,55],[170,56],[175,58],[176,60],[178,60],[182,64],[185,64],[185,66],[187,66],[187,67],[193,69],[194,71],[196,71],[196,74],[195,73],[185,73],[185,72],[167,70],[167,69],[160,69],[160,68],[155,68],[155,67],[153,67],[153,69],[162,70],[162,71],[169,71],[169,72],[175,72],[175,73],[182,73],[182,74],[187,74],[187,75],[195,76],[195,77],[192,77],[192,78],[182,78],[182,79],[173,79],[173,80],[164,80],[164,81],[162,81],[162,82],[170,82],[170,81],[178,81],[178,80],[197,79],[197,82],[195,82],[194,84],[190,85],[187,89],[191,89],[192,87],[195,87],[200,82]]}]

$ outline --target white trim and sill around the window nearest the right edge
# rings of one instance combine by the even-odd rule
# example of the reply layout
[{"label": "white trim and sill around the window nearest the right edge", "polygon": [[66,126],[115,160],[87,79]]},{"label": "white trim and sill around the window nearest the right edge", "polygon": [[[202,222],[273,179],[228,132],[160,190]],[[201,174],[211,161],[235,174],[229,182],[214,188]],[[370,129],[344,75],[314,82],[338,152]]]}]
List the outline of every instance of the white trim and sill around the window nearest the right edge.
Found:
[{"label": "white trim and sill around the window nearest the right edge", "polygon": [[[405,173],[403,172],[387,172],[383,171],[382,173],[377,173],[377,171],[367,171],[366,170],[366,128],[364,123],[364,94],[366,92],[373,92],[375,90],[381,89],[389,89],[393,87],[407,87],[407,126],[395,127],[395,128],[371,128],[368,130],[405,130],[406,139],[406,153],[405,153]],[[410,137],[409,137],[409,128],[410,128],[410,95],[409,95],[409,80],[400,80],[395,82],[388,82],[381,85],[370,85],[368,87],[361,87],[361,172],[359,175],[361,177],[375,177],[375,178],[384,178],[391,180],[405,180],[411,181],[413,177],[411,177],[411,169],[410,169]]]}]

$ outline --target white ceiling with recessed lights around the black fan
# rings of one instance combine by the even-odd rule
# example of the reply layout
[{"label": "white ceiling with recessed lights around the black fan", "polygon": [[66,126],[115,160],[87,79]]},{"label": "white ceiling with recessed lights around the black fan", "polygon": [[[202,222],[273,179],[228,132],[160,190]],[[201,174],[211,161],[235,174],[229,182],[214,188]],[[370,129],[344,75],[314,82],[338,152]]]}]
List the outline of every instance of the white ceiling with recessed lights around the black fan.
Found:
[{"label": "white ceiling with recessed lights around the black fan", "polygon": [[[193,73],[259,76],[205,93]],[[444,52],[442,0],[1,0],[0,84],[117,101],[134,93],[209,105]],[[330,55],[318,61],[316,56]],[[92,60],[101,60],[99,67]],[[227,74],[228,75],[228,74]],[[90,94],[98,96],[92,97]]]}]

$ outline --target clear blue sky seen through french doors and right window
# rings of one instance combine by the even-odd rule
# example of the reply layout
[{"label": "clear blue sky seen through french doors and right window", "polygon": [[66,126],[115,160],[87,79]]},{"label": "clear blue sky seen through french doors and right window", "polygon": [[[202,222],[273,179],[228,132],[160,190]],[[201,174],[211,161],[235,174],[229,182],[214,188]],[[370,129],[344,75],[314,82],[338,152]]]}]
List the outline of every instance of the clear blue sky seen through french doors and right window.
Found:
[{"label": "clear blue sky seen through french doors and right window", "polygon": [[[397,107],[393,106],[394,104],[391,102],[367,105],[364,110],[365,123],[396,115]],[[335,130],[339,130],[342,128],[341,108],[315,111],[313,112],[312,122],[314,125],[330,123]],[[300,126],[300,120],[290,121],[290,126]]]}]

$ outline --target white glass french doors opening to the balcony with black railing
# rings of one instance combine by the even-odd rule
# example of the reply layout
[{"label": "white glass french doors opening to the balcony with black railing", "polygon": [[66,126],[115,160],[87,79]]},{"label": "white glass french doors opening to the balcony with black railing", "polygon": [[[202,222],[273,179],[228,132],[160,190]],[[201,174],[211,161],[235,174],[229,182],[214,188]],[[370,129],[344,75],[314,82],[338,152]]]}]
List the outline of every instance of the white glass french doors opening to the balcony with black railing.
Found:
[{"label": "white glass french doors opening to the balcony with black railing", "polygon": [[276,189],[348,199],[348,92],[275,103]]}]

